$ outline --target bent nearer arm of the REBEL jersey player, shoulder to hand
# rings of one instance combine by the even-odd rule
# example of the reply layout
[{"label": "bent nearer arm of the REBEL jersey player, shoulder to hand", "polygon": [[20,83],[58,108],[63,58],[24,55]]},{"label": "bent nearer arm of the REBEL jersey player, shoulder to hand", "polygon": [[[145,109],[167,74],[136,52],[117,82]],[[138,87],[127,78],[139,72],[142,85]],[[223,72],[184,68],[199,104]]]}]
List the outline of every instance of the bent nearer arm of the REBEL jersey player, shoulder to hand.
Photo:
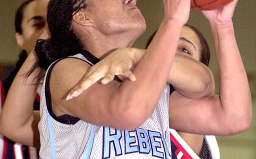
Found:
[{"label": "bent nearer arm of the REBEL jersey player, shoulder to hand", "polygon": [[[124,80],[122,83],[113,81],[104,86],[95,84],[78,98],[65,101],[62,100],[65,94],[61,92],[68,92],[78,80],[74,83],[68,82],[73,80],[68,80],[62,72],[71,73],[74,79],[81,79],[86,66],[74,62],[73,59],[57,64],[50,80],[55,114],[66,113],[97,125],[119,129],[136,128],[145,122],[153,112],[166,84],[181,27],[188,19],[190,1],[164,1],[164,6],[165,18],[149,49],[133,71],[136,75],[135,82]],[[71,68],[65,67],[65,61]],[[83,68],[82,72],[79,69],[77,72],[73,70],[75,63],[79,69]],[[56,91],[57,88],[61,90]]]}]

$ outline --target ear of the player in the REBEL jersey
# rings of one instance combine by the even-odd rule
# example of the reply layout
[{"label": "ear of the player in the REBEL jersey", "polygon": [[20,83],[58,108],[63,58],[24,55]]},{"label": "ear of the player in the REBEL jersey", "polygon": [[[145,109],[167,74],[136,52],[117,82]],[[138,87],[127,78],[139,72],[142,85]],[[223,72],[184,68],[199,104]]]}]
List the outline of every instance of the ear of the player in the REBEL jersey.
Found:
[{"label": "ear of the player in the REBEL jersey", "polygon": [[83,26],[93,26],[93,20],[86,14],[86,11],[80,10],[75,15],[73,15],[73,20]]}]

